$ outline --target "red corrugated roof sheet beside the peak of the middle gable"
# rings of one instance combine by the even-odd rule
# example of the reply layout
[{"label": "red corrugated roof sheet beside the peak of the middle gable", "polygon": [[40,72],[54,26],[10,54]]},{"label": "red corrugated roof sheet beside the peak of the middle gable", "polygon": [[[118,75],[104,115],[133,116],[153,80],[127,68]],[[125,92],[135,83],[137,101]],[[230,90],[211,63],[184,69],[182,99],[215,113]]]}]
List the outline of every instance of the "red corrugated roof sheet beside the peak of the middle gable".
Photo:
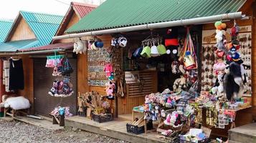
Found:
[{"label": "red corrugated roof sheet beside the peak of the middle gable", "polygon": [[74,11],[80,16],[80,19],[87,14],[89,14],[93,9],[95,9],[97,6],[91,5],[91,4],[82,4],[77,2],[71,3],[73,6]]}]

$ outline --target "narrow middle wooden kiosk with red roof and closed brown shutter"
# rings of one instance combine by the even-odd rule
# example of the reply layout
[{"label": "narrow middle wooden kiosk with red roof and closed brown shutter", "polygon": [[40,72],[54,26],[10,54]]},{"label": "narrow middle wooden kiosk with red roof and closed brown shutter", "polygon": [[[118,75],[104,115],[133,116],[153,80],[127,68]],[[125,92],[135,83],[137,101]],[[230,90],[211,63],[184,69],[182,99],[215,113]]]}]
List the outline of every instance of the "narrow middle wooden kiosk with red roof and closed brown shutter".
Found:
[{"label": "narrow middle wooden kiosk with red roof and closed brown shutter", "polygon": [[[57,26],[52,34],[45,34],[45,36],[50,39],[47,44],[19,49],[17,54],[25,54],[26,56],[22,57],[27,58],[27,60],[24,60],[24,69],[27,69],[27,66],[29,66],[29,69],[27,69],[29,71],[24,71],[25,74],[29,75],[29,78],[25,77],[26,80],[29,80],[29,84],[25,81],[25,89],[29,90],[29,92],[24,90],[24,92],[21,92],[20,94],[29,98],[29,101],[32,103],[31,111],[33,114],[49,116],[52,109],[58,106],[68,106],[70,107],[70,112],[72,114],[75,115],[77,113],[77,89],[79,89],[77,86],[77,79],[80,79],[77,76],[80,71],[80,69],[77,69],[79,67],[77,66],[77,63],[80,62],[80,58],[72,55],[72,51],[70,51],[70,49],[73,48],[73,39],[52,41],[52,36],[60,36],[64,34],[66,29],[77,23],[77,21],[90,11],[93,11],[93,9],[95,9],[95,6],[93,5],[72,2],[64,18],[60,19],[60,26]],[[23,30],[26,31],[28,29]],[[29,34],[29,36],[31,36],[31,34]],[[24,39],[27,38],[25,37]],[[54,52],[67,53],[74,69],[70,78],[73,85],[72,89],[75,94],[71,97],[58,98],[51,97],[48,94],[56,77],[52,77],[53,69],[46,68],[45,63],[47,61],[46,57],[51,54],[53,55]],[[29,61],[29,63],[25,64],[26,61]],[[25,93],[29,93],[29,95],[26,95]]]}]

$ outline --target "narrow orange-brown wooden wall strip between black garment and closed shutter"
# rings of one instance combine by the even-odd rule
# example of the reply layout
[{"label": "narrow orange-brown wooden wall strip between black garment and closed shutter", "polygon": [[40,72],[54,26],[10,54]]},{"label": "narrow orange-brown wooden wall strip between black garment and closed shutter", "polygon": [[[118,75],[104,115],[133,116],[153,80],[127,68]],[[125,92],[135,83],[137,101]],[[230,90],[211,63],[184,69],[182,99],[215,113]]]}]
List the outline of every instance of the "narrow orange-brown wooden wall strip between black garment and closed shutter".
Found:
[{"label": "narrow orange-brown wooden wall strip between black garment and closed shutter", "polygon": [[29,99],[32,104],[31,112],[34,112],[34,69],[33,59],[29,58],[29,55],[22,56],[23,70],[24,70],[24,89],[19,90],[18,94]]}]

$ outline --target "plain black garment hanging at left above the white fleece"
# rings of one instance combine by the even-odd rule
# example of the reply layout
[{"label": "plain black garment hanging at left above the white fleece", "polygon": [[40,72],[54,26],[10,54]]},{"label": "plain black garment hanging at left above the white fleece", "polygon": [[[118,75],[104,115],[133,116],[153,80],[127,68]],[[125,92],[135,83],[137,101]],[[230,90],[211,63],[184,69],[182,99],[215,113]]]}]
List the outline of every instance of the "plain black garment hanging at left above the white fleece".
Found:
[{"label": "plain black garment hanging at left above the white fleece", "polygon": [[22,59],[9,59],[9,90],[24,89]]}]

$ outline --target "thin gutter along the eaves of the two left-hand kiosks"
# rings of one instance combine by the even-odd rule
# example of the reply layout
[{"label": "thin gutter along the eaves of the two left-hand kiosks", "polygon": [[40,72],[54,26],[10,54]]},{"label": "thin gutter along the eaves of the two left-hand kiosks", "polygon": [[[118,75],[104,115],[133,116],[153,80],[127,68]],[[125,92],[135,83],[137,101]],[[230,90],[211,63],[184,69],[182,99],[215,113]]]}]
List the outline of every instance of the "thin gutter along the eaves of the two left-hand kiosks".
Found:
[{"label": "thin gutter along the eaves of the two left-hand kiosks", "polygon": [[1,52],[0,56],[11,56],[11,55],[22,55],[22,54],[46,54],[46,53],[52,53],[55,51],[65,51],[65,49],[51,49],[51,50],[40,50],[40,51],[18,51],[18,52]]}]

